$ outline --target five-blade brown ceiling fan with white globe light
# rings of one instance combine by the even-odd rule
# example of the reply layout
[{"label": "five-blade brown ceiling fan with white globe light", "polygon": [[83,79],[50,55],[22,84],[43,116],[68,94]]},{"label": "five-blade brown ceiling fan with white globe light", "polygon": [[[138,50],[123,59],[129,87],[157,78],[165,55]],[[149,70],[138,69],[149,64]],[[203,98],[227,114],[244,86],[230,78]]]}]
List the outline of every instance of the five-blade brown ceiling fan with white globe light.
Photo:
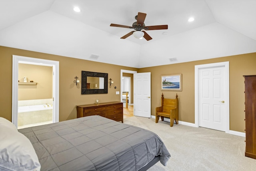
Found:
[{"label": "five-blade brown ceiling fan with white globe light", "polygon": [[138,15],[135,16],[135,19],[137,20],[137,22],[134,22],[131,26],[124,26],[124,25],[119,25],[119,24],[110,24],[110,26],[113,27],[123,27],[123,28],[132,28],[135,31],[132,31],[126,35],[124,35],[123,37],[121,37],[121,39],[125,39],[128,38],[129,36],[131,36],[132,34],[134,35],[134,37],[138,38],[138,39],[142,39],[143,37],[146,40],[151,40],[152,38],[144,31],[144,30],[163,30],[163,29],[168,29],[168,25],[159,25],[159,26],[145,26],[144,24],[144,20],[146,18],[145,13],[142,12],[138,12]]}]

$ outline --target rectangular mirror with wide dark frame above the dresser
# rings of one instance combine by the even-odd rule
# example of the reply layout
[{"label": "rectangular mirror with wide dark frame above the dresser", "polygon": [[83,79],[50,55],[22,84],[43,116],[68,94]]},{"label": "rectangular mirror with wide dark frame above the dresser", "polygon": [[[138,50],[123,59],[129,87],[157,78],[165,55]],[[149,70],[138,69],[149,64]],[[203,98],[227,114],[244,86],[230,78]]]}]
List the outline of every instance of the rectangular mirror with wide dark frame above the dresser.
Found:
[{"label": "rectangular mirror with wide dark frame above the dresser", "polygon": [[108,74],[82,71],[81,94],[108,93]]}]

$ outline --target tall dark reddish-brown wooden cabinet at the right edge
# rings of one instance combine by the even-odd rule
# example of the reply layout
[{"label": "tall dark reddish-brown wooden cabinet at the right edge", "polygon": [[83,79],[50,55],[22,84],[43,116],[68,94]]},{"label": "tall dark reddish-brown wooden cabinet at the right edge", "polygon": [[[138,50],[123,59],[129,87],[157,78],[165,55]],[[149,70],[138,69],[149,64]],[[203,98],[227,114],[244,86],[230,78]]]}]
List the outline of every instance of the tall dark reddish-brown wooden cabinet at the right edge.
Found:
[{"label": "tall dark reddish-brown wooden cabinet at the right edge", "polygon": [[256,75],[244,76],[245,84],[245,156],[256,159]]}]

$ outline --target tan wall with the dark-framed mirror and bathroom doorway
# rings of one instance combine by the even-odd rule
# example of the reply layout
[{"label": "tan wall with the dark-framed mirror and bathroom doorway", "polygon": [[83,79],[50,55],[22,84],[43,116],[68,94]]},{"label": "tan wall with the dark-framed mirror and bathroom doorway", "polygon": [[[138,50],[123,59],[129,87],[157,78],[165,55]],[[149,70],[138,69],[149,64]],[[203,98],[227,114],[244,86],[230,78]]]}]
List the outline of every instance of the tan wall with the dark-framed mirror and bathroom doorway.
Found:
[{"label": "tan wall with the dark-framed mirror and bathroom doorway", "polygon": [[[0,117],[10,121],[12,120],[12,55],[60,62],[60,121],[76,118],[76,105],[94,103],[96,99],[101,103],[120,101],[120,95],[116,95],[116,91],[120,91],[120,70],[138,70],[0,46],[0,77],[3,78],[0,84]],[[108,85],[108,94],[81,95],[81,71],[108,73],[108,78],[114,80],[114,86]],[[77,85],[74,83],[75,76],[80,80]],[[114,89],[115,86],[116,89]]]}]

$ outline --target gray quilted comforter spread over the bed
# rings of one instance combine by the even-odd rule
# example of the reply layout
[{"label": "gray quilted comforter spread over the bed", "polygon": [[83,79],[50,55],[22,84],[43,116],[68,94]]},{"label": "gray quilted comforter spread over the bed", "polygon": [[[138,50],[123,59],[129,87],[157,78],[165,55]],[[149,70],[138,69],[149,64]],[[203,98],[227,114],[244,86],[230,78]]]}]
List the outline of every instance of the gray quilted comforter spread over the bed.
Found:
[{"label": "gray quilted comforter spread over the bed", "polygon": [[137,171],[170,153],[155,133],[98,115],[19,130],[38,155],[41,171]]}]

